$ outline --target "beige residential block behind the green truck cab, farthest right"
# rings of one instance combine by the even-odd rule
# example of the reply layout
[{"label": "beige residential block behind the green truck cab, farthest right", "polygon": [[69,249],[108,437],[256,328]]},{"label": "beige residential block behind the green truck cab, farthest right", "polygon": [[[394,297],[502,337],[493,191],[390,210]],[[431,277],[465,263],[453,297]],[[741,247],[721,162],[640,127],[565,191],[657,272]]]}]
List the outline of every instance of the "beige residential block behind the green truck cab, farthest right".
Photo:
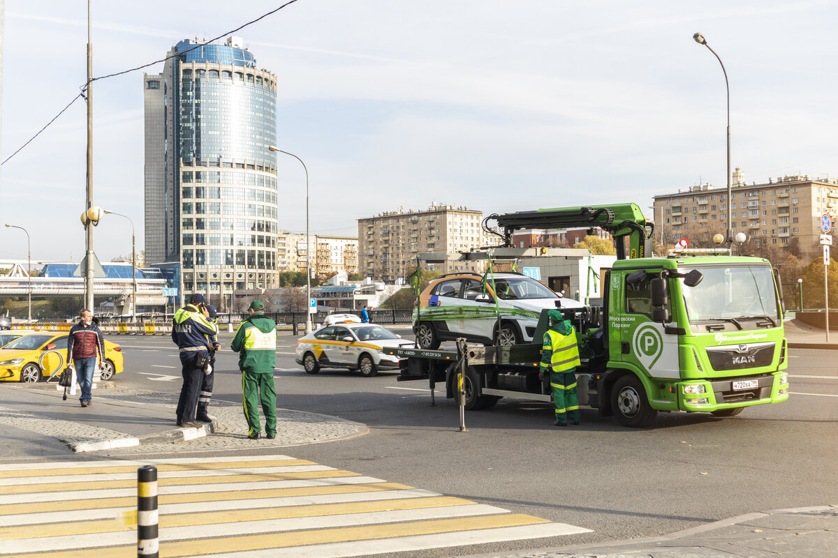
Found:
[{"label": "beige residential block behind the green truck cab, farthest right", "polygon": [[654,197],[654,235],[671,244],[680,238],[722,233],[730,205],[733,234],[745,233],[753,246],[799,246],[804,258],[822,253],[820,217],[838,214],[838,180],[792,176],[746,184],[742,170],[733,173],[732,199],[727,187],[703,185]]}]

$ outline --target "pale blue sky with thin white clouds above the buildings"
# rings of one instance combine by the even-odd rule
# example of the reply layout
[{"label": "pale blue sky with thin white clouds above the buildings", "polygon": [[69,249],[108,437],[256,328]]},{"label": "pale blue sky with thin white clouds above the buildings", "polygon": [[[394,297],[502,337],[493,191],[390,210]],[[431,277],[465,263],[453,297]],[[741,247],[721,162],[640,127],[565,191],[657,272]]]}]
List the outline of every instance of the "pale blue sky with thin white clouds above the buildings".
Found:
[{"label": "pale blue sky with thin white clouds above the buildings", "polygon": [[[162,59],[282,2],[93,0],[93,73]],[[277,143],[308,166],[311,233],[432,202],[491,212],[838,176],[835,2],[765,0],[297,0],[237,36],[277,74]],[[85,82],[84,0],[5,0],[5,159]],[[146,69],[158,73],[163,64]],[[94,202],[131,216],[143,244],[142,70],[96,81]],[[85,249],[85,105],[76,102],[0,170],[0,222],[34,259]],[[305,175],[282,156],[279,226],[305,231]],[[94,247],[131,252],[106,216]],[[0,227],[0,259],[25,259]]]}]

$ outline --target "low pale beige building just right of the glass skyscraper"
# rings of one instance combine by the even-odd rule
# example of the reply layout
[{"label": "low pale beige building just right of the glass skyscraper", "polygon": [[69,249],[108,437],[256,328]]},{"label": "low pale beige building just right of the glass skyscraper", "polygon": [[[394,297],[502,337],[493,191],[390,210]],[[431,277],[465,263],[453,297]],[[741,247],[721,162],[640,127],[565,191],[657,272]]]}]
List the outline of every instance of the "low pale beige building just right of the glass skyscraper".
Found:
[{"label": "low pale beige building just right of the glass skyscraper", "polygon": [[305,273],[308,253],[313,253],[314,274],[358,273],[358,238],[310,235],[311,250],[306,248],[306,235],[281,232],[277,235],[277,269]]}]

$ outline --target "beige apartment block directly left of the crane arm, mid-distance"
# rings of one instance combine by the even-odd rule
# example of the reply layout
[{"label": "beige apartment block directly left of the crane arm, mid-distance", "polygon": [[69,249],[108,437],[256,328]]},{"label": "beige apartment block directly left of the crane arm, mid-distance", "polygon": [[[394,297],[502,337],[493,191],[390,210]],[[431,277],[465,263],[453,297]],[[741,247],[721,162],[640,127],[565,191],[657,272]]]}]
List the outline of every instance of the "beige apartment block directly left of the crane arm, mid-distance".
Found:
[{"label": "beige apartment block directly left of the crane arm, mid-distance", "polygon": [[499,243],[484,233],[483,212],[432,203],[425,211],[399,208],[358,219],[360,274],[394,281],[406,277],[422,257],[422,269],[443,273],[482,271],[484,262],[460,261],[459,253]]}]

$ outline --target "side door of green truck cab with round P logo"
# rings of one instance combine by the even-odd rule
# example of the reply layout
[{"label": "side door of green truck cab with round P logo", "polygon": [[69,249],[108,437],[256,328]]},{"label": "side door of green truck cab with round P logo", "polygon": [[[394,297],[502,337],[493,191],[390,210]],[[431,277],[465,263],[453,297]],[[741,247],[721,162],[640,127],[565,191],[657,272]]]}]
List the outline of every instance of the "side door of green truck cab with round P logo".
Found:
[{"label": "side door of green truck cab with round P logo", "polygon": [[[678,335],[666,333],[663,324],[652,321],[651,279],[660,269],[646,271],[646,277],[641,280],[629,280],[629,273],[622,275],[623,312],[617,322],[621,360],[634,362],[652,377],[679,378]],[[671,301],[667,310],[672,316]]]}]

